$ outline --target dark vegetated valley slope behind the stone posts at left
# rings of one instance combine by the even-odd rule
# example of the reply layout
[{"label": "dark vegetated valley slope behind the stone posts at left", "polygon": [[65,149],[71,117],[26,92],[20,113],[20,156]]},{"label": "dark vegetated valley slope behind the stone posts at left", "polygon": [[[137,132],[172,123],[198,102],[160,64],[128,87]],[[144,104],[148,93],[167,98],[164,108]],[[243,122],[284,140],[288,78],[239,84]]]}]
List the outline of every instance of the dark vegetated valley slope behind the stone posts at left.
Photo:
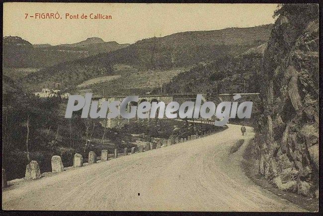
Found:
[{"label": "dark vegetated valley slope behind the stone posts at left", "polygon": [[65,119],[66,102],[36,98],[9,77],[2,78],[2,166],[9,179],[23,177],[30,160],[37,160],[44,172],[51,169],[52,155],[61,155],[68,166],[76,152],[86,158],[90,150],[133,146],[127,134],[113,129],[104,133],[99,120],[81,119],[81,113]]}]

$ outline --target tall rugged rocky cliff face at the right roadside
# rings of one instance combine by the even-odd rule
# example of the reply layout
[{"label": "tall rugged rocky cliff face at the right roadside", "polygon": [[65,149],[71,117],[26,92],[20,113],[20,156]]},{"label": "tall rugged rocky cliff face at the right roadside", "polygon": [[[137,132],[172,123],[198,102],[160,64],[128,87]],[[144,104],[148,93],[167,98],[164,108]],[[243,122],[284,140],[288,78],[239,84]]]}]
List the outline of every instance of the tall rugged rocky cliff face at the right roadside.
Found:
[{"label": "tall rugged rocky cliff face at the right roadside", "polygon": [[318,197],[317,5],[282,7],[263,68],[263,115],[255,127],[259,173],[282,190]]}]

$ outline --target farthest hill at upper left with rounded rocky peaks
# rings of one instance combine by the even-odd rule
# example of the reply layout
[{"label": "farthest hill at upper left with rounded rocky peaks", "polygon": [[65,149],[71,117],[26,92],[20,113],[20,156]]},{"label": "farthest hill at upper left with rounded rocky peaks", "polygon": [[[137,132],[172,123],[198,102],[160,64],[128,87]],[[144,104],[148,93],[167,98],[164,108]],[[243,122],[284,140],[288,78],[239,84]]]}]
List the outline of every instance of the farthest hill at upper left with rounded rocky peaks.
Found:
[{"label": "farthest hill at upper left with rounded rocky peaks", "polygon": [[112,52],[128,46],[116,42],[104,42],[100,38],[90,38],[76,44],[51,46],[32,45],[15,36],[3,38],[2,62],[4,68],[43,68],[62,62]]}]

